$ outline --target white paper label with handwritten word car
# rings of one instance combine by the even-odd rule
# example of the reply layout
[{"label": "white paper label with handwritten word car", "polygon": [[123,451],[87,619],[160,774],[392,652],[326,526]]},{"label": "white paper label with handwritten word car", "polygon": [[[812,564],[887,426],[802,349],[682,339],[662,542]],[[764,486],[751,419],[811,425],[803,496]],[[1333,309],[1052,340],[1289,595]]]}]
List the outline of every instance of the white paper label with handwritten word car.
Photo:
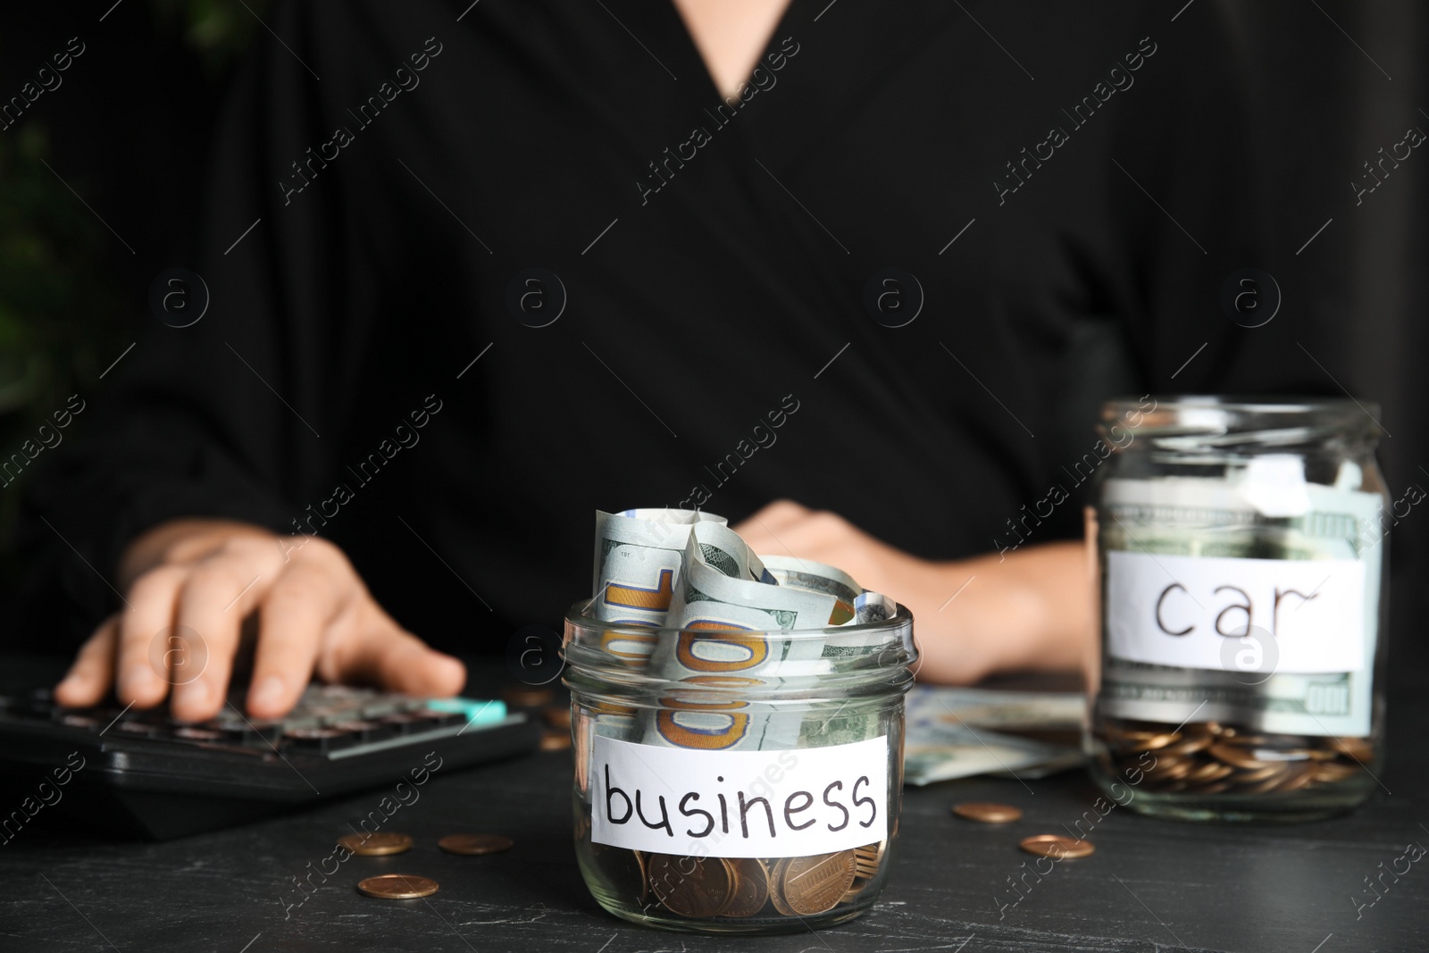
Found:
[{"label": "white paper label with handwritten word car", "polygon": [[[1116,659],[1315,674],[1365,667],[1365,563],[1106,554]],[[1249,636],[1248,636],[1249,633]]]}]

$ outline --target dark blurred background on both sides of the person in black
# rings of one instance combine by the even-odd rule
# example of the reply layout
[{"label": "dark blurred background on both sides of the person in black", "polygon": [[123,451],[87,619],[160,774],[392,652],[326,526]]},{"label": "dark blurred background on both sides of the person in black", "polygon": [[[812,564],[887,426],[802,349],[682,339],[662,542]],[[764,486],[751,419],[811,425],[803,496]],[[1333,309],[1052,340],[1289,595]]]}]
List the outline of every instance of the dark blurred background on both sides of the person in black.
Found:
[{"label": "dark blurred background on both sides of the person in black", "polygon": [[[272,6],[100,0],[0,14],[3,96],[66,51],[70,37],[83,44],[61,83],[0,129],[0,459],[34,439],[70,394],[89,401],[103,393],[101,376],[156,320],[147,309],[154,277],[193,264],[186,250],[210,131],[233,67],[264,33],[259,17],[269,19]],[[1352,183],[1370,183],[1366,163],[1408,129],[1429,130],[1429,7],[1262,0],[1226,14],[1249,66],[1255,120],[1258,160],[1245,174],[1260,207],[1245,213],[1263,214],[1269,237],[1266,260],[1246,266],[1272,273],[1283,293],[1276,331],[1290,326],[1300,344],[1283,360],[1303,363],[1289,370],[1382,404],[1392,436],[1380,463],[1400,499],[1412,486],[1429,487],[1429,151],[1386,163],[1373,193],[1356,196]],[[87,423],[80,414],[60,433],[73,440]],[[3,606],[17,604],[33,569],[14,530],[21,492],[44,479],[44,453],[19,477],[0,477]],[[1390,567],[1393,669],[1416,680],[1429,666],[1418,627],[1429,612],[1429,503],[1392,529]],[[6,616],[0,642],[50,642]]]}]

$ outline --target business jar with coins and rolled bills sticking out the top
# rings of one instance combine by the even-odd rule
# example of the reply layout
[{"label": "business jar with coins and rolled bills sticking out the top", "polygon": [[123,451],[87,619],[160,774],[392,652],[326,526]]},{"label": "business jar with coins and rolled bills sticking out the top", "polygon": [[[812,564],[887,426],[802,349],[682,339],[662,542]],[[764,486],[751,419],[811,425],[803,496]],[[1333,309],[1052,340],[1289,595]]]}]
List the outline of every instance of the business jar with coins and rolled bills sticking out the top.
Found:
[{"label": "business jar with coins and rolled bills sticking out the top", "polygon": [[602,513],[596,553],[563,649],[596,900],[700,933],[867,910],[897,833],[907,609],[704,514]]}]

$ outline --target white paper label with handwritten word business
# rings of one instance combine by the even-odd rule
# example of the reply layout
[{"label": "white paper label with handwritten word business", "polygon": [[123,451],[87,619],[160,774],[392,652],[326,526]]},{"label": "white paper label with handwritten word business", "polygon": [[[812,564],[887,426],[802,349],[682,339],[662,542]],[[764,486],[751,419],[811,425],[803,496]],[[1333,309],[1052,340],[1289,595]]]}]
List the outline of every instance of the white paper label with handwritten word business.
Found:
[{"label": "white paper label with handwritten word business", "polygon": [[887,836],[886,737],[693,752],[596,736],[590,839],[700,857],[807,857]]}]

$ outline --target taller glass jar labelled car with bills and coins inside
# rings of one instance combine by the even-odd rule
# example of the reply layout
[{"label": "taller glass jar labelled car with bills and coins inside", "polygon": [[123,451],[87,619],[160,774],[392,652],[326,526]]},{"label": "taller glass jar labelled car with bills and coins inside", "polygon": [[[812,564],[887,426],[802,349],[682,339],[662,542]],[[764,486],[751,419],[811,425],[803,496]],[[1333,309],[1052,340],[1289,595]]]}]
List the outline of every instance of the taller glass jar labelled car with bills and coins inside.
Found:
[{"label": "taller glass jar labelled car with bills and coins inside", "polygon": [[1346,812],[1383,763],[1379,410],[1170,397],[1102,410],[1100,657],[1086,744],[1122,804],[1183,820]]}]

